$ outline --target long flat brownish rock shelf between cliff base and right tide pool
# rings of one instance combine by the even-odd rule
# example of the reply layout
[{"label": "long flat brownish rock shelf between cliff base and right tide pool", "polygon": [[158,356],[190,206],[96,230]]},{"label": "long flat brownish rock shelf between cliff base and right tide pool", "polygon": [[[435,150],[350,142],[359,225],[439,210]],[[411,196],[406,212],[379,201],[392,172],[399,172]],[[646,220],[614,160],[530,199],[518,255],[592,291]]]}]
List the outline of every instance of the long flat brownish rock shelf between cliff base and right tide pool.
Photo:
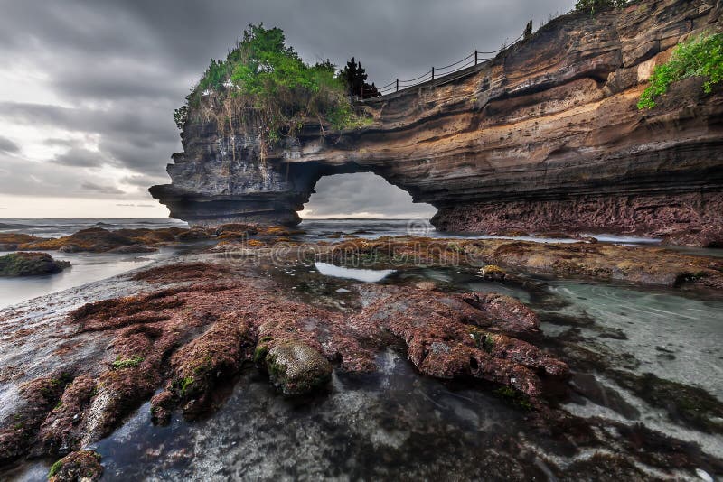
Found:
[{"label": "long flat brownish rock shelf between cliff base and right tide pool", "polygon": [[[292,251],[308,252],[320,259],[350,266],[471,264],[487,269],[547,273],[560,277],[617,280],[664,285],[676,288],[704,286],[719,291],[723,287],[723,261],[717,258],[685,255],[662,247],[619,246],[604,243],[534,243],[506,239],[435,239],[415,236],[380,237],[374,240],[347,240],[336,244],[316,244]],[[499,266],[497,266],[499,264]],[[505,273],[510,277],[511,273]],[[502,281],[495,272],[494,281]]]}]

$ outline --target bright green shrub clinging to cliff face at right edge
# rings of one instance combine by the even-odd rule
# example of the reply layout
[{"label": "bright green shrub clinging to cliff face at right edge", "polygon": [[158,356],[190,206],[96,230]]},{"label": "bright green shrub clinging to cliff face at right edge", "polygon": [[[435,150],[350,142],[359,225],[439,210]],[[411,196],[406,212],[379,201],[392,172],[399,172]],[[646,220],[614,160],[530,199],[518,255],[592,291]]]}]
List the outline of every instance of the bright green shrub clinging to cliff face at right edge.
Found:
[{"label": "bright green shrub clinging to cliff face at right edge", "polygon": [[655,97],[665,94],[671,83],[689,77],[706,79],[703,84],[706,93],[723,79],[723,33],[700,35],[678,45],[671,60],[653,70],[650,85],[643,91],[638,108],[655,107]]}]

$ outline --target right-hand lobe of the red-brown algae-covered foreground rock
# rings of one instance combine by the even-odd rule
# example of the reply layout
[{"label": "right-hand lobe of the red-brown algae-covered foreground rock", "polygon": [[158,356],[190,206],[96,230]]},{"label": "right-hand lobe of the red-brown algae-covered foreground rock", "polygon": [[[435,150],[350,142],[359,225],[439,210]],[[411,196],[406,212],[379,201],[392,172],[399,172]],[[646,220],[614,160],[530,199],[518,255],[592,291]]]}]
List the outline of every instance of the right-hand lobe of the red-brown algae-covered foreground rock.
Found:
[{"label": "right-hand lobe of the red-brown algae-covered foreground rock", "polygon": [[[352,326],[370,337],[379,336],[380,329],[389,330],[404,341],[409,359],[424,374],[439,378],[474,376],[539,396],[540,380],[535,373],[538,368],[548,375],[568,373],[564,363],[526,342],[480,330],[501,327],[486,313],[466,303],[464,295],[408,288],[394,292],[384,292],[380,287],[367,290],[374,292],[377,299],[352,316]],[[533,329],[537,329],[536,323],[527,330]],[[494,343],[502,340],[505,348],[498,348],[494,356]]]}]

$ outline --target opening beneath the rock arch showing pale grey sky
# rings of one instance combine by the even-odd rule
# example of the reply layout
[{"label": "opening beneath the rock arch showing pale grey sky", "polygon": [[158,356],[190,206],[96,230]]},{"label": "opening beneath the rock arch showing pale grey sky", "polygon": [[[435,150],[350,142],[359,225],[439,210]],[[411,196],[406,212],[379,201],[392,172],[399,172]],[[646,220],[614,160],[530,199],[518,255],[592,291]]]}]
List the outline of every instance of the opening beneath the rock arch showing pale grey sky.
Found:
[{"label": "opening beneath the rock arch showing pale grey sky", "polygon": [[412,202],[411,195],[371,172],[335,174],[316,182],[303,219],[429,219],[437,209]]}]

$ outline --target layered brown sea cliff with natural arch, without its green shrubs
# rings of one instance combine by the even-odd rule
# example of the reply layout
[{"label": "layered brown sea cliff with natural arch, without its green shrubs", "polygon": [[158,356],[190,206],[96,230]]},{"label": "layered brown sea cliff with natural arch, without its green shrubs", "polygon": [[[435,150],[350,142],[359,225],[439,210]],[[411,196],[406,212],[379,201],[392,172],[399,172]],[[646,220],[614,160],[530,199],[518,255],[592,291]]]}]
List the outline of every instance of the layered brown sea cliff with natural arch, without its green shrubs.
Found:
[{"label": "layered brown sea cliff with natural arch, without its green shrubs", "polygon": [[676,44],[723,30],[721,12],[720,0],[648,0],[568,14],[453,79],[367,100],[372,125],[325,136],[305,125],[264,159],[255,133],[189,122],[172,184],[151,192],[192,224],[293,224],[322,176],[372,171],[434,205],[443,230],[717,243],[723,89],[687,79],[653,110],[636,103]]}]

